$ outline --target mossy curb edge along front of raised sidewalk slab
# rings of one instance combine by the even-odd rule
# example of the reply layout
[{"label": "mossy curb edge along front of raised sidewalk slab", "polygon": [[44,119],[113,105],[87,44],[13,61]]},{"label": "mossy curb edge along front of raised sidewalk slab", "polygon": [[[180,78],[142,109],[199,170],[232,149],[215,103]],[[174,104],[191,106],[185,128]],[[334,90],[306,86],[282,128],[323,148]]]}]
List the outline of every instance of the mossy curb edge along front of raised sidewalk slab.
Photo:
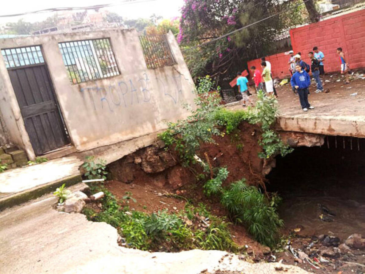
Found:
[{"label": "mossy curb edge along front of raised sidewalk slab", "polygon": [[66,187],[70,187],[71,185],[80,183],[81,181],[81,175],[71,175],[57,181],[53,181],[31,189],[26,189],[22,192],[14,193],[10,196],[0,199],[0,211],[3,211],[8,207],[13,207],[14,205],[19,205],[29,200],[36,199],[44,194],[54,192],[56,188],[61,187],[63,184],[65,184]]}]

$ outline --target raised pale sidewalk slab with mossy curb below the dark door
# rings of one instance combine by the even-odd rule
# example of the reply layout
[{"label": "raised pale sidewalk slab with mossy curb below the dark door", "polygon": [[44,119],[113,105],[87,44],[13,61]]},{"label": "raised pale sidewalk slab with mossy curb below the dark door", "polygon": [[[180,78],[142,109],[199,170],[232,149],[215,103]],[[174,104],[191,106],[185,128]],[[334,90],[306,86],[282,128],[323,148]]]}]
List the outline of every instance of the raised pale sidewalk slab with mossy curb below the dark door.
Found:
[{"label": "raised pale sidewalk slab with mossy curb below the dark door", "polygon": [[0,173],[0,210],[54,191],[63,183],[81,182],[77,157],[64,157]]}]

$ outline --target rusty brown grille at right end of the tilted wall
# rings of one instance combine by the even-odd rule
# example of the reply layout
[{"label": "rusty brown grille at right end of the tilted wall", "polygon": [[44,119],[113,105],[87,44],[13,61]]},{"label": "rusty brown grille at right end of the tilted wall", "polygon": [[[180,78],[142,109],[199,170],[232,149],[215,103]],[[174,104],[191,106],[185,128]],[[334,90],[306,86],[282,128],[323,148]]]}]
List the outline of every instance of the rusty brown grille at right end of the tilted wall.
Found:
[{"label": "rusty brown grille at right end of the tilted wall", "polygon": [[147,69],[173,66],[176,63],[166,35],[139,36]]}]

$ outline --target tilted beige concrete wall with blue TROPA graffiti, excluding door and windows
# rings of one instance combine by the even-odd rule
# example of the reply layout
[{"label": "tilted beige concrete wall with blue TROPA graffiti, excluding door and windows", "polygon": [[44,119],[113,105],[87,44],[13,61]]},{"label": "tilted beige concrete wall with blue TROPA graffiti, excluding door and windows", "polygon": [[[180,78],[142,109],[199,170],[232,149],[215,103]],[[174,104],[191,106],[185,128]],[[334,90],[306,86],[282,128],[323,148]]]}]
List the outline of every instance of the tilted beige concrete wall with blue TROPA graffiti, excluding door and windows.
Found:
[{"label": "tilted beige concrete wall with blue TROPA graffiti, excluding door and windows", "polygon": [[[120,75],[74,85],[58,43],[96,38],[110,38]],[[135,30],[0,39],[0,48],[42,45],[72,143],[82,151],[153,133],[188,116],[182,104],[193,104],[195,86],[174,36],[168,40],[178,64],[155,70],[147,69]],[[7,74],[3,61],[0,69]]]}]

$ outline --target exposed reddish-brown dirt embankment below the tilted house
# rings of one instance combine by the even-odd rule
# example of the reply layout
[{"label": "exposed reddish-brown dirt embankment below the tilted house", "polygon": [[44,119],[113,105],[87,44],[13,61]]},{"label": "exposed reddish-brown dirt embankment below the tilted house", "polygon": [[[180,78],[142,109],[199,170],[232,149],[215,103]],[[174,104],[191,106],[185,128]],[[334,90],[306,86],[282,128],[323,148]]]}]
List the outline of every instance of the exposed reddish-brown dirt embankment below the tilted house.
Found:
[{"label": "exposed reddish-brown dirt embankment below the tilted house", "polygon": [[[264,161],[258,157],[261,147],[258,145],[261,129],[256,125],[243,122],[236,132],[225,137],[214,137],[214,144],[202,144],[197,153],[213,168],[227,167],[229,175],[224,186],[233,181],[246,178],[247,183],[260,185],[265,180],[261,175]],[[212,214],[227,216],[216,198],[208,198],[203,193],[204,181],[197,177],[203,171],[196,164],[183,167],[174,151],[165,150],[162,142],[138,150],[108,165],[113,176],[105,186],[119,199],[130,192],[137,202],[130,207],[147,213],[167,209],[177,212],[184,208],[187,200],[204,203]],[[184,197],[176,198],[175,195]],[[174,197],[175,196],[175,197]],[[242,226],[231,226],[233,239],[239,245],[249,245],[254,253],[262,255],[262,247],[251,238]]]}]

